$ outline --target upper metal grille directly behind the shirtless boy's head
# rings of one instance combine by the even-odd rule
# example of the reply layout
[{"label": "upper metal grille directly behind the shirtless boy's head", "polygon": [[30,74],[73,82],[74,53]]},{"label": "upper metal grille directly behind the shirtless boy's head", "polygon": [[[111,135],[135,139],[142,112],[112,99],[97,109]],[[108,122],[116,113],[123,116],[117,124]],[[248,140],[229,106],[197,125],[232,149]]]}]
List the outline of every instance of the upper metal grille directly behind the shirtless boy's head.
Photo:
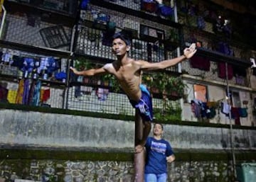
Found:
[{"label": "upper metal grille directly behind the shirtless boy's head", "polygon": [[[115,1],[113,3],[118,3]],[[124,1],[125,3],[132,3]],[[124,3],[123,2],[123,3]],[[137,4],[137,3],[135,3]],[[127,5],[127,7],[130,7]],[[104,21],[97,17],[109,17]],[[116,59],[111,52],[112,35],[114,32],[120,30],[127,31],[132,38],[132,50],[129,52],[129,56],[134,59],[144,59],[149,62],[159,62],[160,60],[176,57],[176,49],[164,51],[165,45],[156,41],[156,38],[151,40],[144,40],[141,35],[142,26],[148,26],[156,28],[161,31],[163,38],[167,39],[175,37],[177,39],[177,30],[170,28],[168,25],[156,23],[154,21],[148,21],[137,16],[129,16],[125,13],[115,13],[107,8],[90,5],[88,10],[81,11],[80,13],[81,23],[78,26],[77,39],[75,40],[75,52],[82,55],[91,55],[97,57],[103,57],[107,59]],[[109,21],[109,22],[108,22]],[[110,30],[110,25],[113,25]],[[139,38],[140,37],[140,38]],[[155,40],[155,41],[154,41]],[[174,70],[174,68],[172,68]],[[177,70],[177,67],[175,67]]]}]

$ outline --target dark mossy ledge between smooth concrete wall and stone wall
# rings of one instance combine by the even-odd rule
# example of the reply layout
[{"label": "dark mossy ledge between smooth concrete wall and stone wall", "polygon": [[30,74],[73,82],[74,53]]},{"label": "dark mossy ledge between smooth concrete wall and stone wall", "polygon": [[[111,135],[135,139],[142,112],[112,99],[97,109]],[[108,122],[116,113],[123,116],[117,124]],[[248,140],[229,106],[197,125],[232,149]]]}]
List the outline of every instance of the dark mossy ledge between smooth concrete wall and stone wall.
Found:
[{"label": "dark mossy ledge between smooth concrete wall and stone wall", "polygon": [[[232,159],[230,151],[225,150],[180,150],[174,149],[176,161],[228,161]],[[96,152],[97,151],[97,152]],[[235,152],[240,161],[256,160],[254,151]],[[132,152],[105,152],[94,149],[93,152],[58,149],[0,149],[0,159],[61,159],[90,161],[133,161]]]}]

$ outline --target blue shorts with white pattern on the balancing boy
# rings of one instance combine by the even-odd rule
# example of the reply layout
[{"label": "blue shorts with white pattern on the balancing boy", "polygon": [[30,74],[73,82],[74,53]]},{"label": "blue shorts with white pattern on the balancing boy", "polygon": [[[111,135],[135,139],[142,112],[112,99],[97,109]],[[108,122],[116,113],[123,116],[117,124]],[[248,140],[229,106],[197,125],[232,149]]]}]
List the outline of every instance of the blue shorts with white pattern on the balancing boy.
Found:
[{"label": "blue shorts with white pattern on the balancing boy", "polygon": [[142,117],[143,121],[151,121],[153,120],[152,98],[146,86],[141,84],[139,88],[142,90],[142,98],[140,98],[140,101],[129,101],[134,108],[139,110],[139,115]]}]

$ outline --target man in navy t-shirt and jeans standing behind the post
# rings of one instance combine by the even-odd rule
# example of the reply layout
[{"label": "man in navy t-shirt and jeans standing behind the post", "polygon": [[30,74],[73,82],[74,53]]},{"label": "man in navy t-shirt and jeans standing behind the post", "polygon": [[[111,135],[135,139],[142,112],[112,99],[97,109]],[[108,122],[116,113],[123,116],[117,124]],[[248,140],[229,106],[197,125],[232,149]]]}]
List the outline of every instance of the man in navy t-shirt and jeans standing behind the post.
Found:
[{"label": "man in navy t-shirt and jeans standing behind the post", "polygon": [[153,128],[153,137],[146,140],[145,182],[166,182],[167,162],[175,160],[171,145],[162,139],[163,125],[156,123]]}]

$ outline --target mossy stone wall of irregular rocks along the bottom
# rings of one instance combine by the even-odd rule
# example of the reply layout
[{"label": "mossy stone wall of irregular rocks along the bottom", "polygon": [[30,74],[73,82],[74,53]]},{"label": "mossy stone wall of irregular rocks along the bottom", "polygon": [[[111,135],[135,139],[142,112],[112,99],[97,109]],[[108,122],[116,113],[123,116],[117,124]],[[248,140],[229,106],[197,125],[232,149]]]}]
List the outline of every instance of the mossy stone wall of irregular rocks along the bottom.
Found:
[{"label": "mossy stone wall of irregular rocks along the bottom", "polygon": [[[4,160],[0,181],[27,179],[43,182],[132,182],[132,161]],[[223,161],[175,161],[168,182],[229,182],[230,164]],[[28,181],[26,181],[28,182]]]}]

